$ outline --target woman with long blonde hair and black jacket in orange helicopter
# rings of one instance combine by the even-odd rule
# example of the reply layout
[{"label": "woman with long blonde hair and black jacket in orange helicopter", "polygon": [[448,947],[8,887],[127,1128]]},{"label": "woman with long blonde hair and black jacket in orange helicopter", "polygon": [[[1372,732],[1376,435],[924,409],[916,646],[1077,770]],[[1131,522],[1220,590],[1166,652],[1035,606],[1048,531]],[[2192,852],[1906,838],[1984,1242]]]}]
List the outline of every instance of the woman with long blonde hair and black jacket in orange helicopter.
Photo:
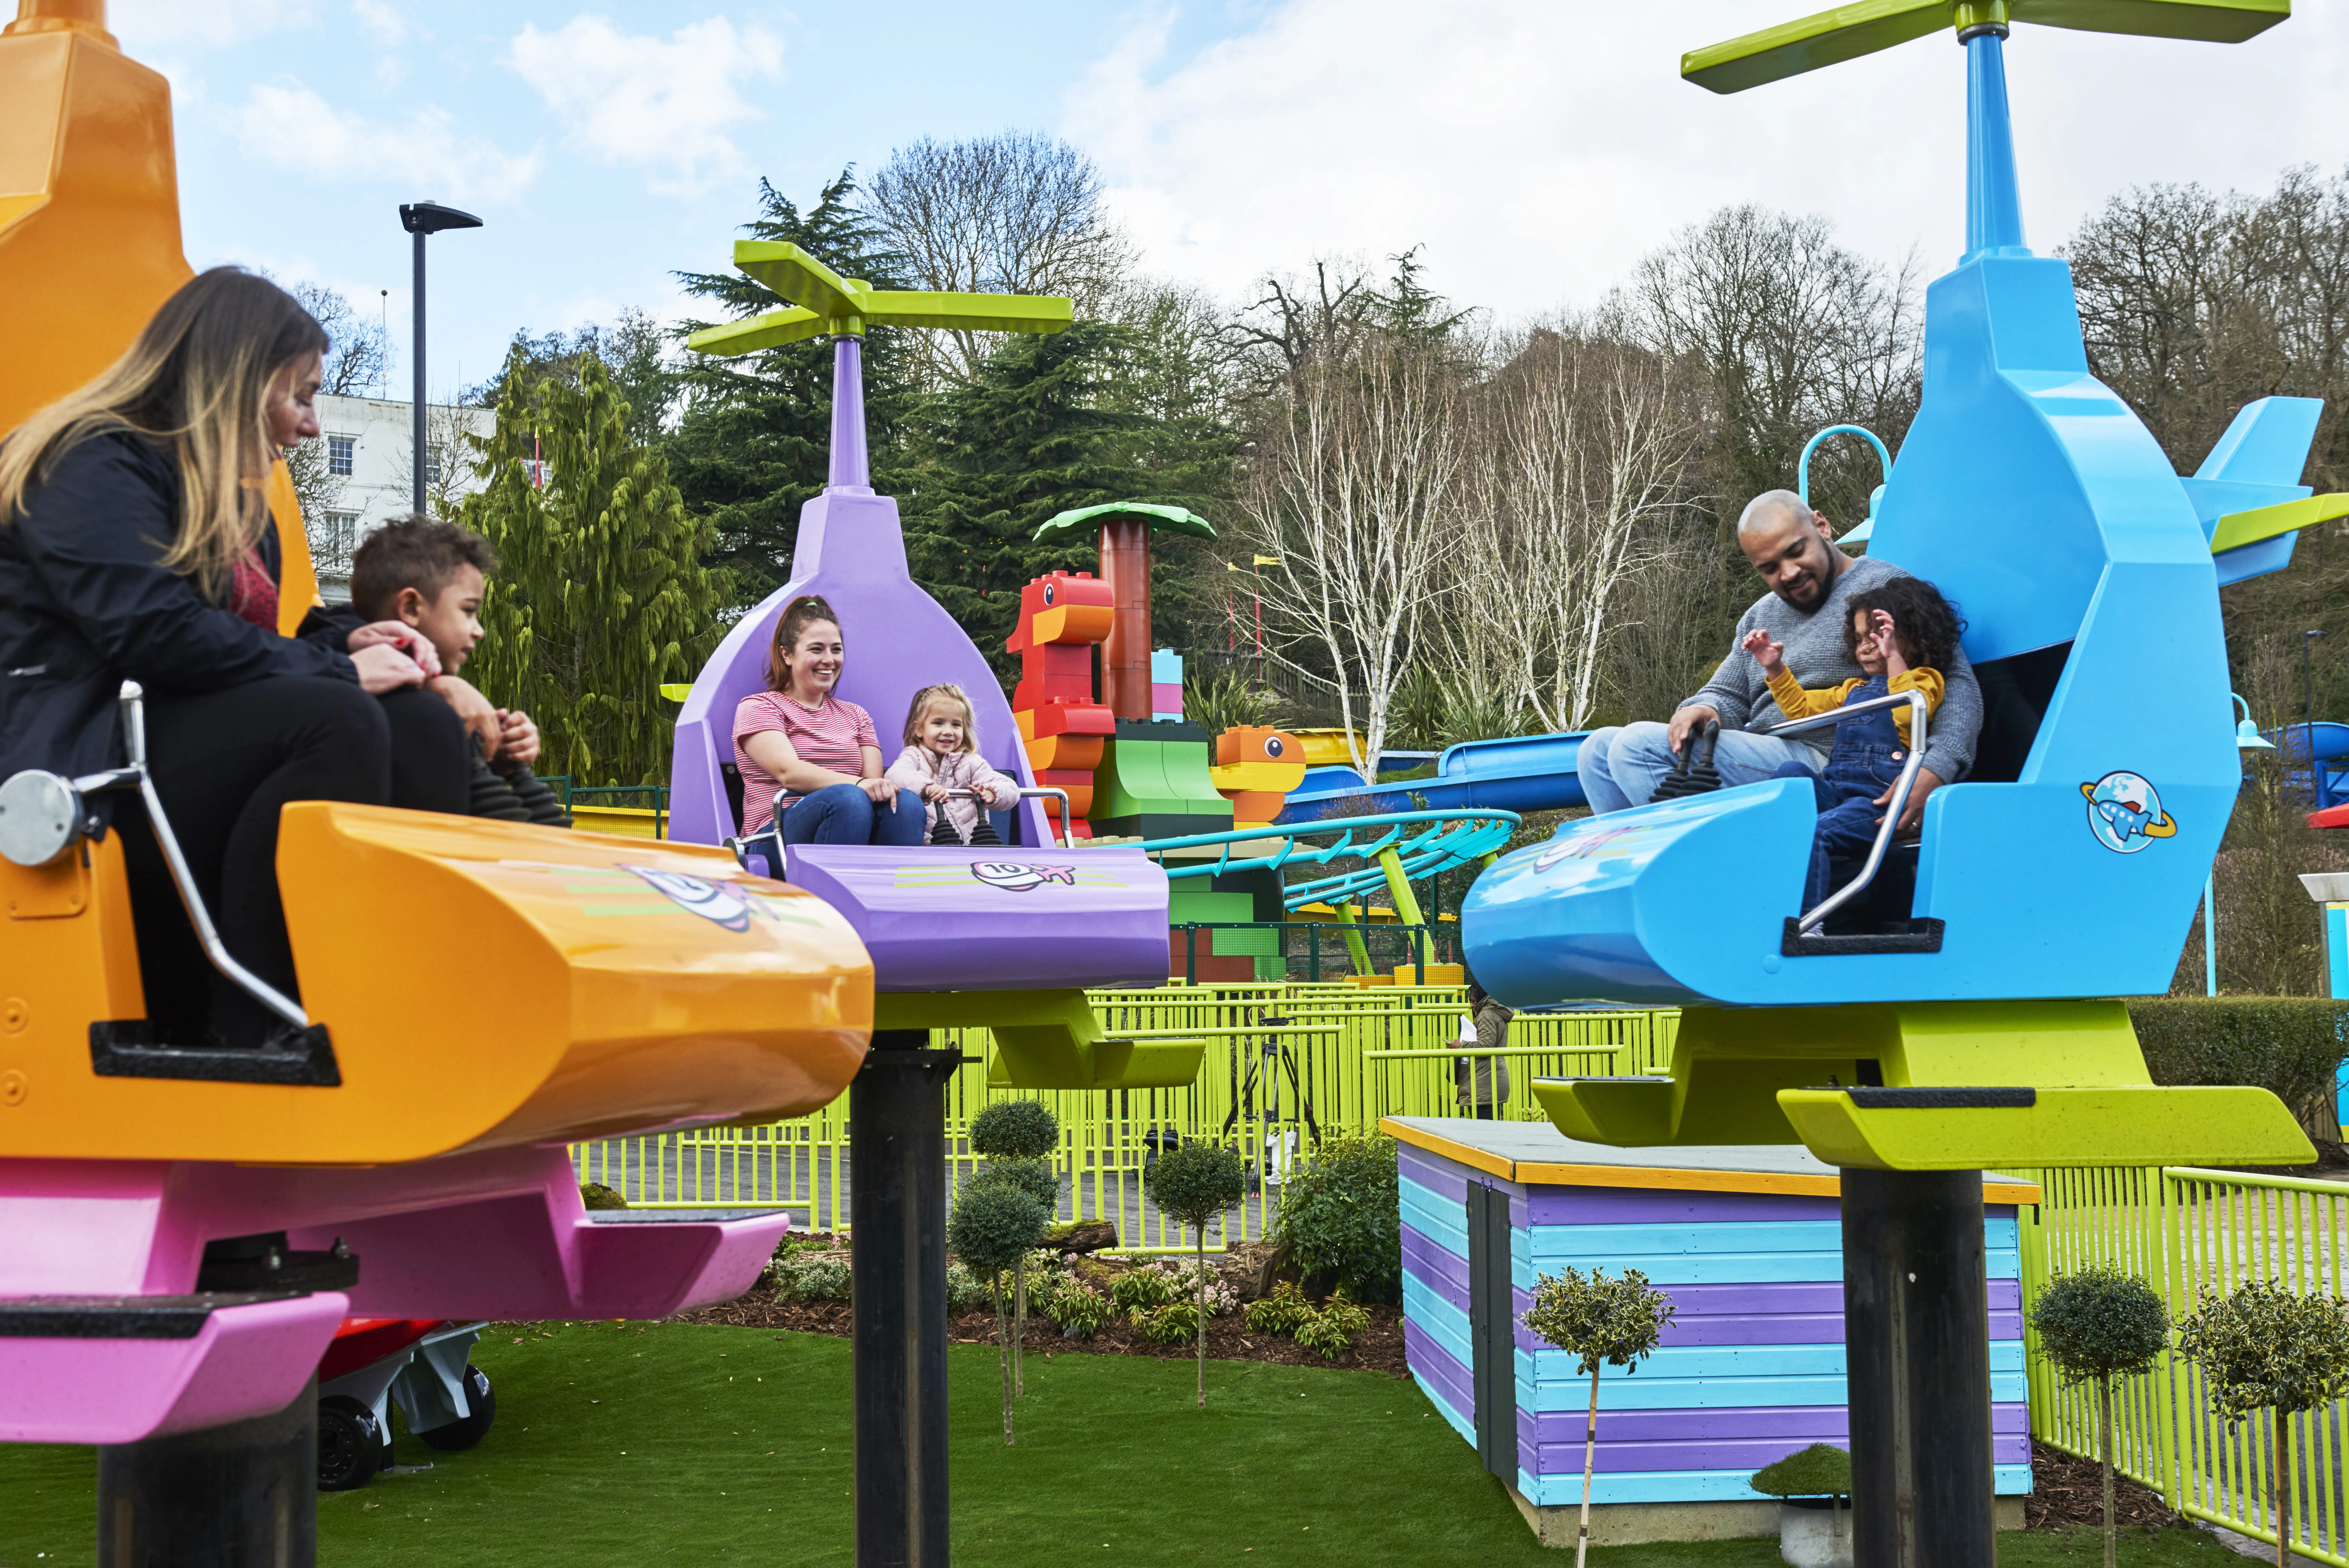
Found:
[{"label": "woman with long blonde hair and black jacket in orange helicopter", "polygon": [[[327,334],[277,284],[214,268],[129,353],[0,442],[0,778],[120,762],[115,696],[148,693],[148,759],[228,950],[298,997],[277,813],[392,799],[392,750],[463,802],[465,731],[395,646],[277,635],[277,449],[317,435]],[[291,1025],[204,964],[136,804],[124,858],[148,1013],[167,1044],[280,1044]],[[442,802],[418,804],[446,809]],[[458,806],[463,809],[463,806]]]}]

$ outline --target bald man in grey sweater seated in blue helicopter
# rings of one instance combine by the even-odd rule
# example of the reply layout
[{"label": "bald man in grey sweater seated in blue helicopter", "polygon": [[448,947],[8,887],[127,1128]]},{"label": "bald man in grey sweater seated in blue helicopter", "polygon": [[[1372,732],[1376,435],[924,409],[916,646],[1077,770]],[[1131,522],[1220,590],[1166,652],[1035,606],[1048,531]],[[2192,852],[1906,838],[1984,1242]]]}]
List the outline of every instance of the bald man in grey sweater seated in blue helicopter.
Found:
[{"label": "bald man in grey sweater seated in blue helicopter", "polygon": [[[1769,778],[1788,762],[1799,762],[1813,773],[1828,766],[1828,752],[1835,748],[1832,726],[1783,738],[1757,733],[1783,724],[1785,715],[1771,701],[1762,665],[1736,644],[1745,632],[1762,628],[1785,644],[1785,668],[1799,684],[1835,686],[1853,679],[1860,665],[1844,651],[1849,618],[1844,607],[1853,595],[1907,574],[1891,562],[1837,550],[1828,520],[1790,489],[1766,491],[1745,505],[1745,515],[1738,517],[1738,548],[1769,583],[1769,592],[1738,618],[1729,658],[1703,691],[1680,705],[1670,724],[1642,722],[1590,731],[1581,750],[1581,780],[1593,811],[1623,811],[1654,799],[1680,748],[1705,719],[1722,724],[1712,764],[1724,785]],[[1943,783],[1964,778],[1973,766],[1973,741],[1983,731],[1983,689],[1964,649],[1950,663],[1952,668],[1943,670],[1940,708],[1926,726],[1917,788],[1910,792],[1907,811],[1900,813],[1903,837],[1917,832],[1924,820],[1926,797]]]}]

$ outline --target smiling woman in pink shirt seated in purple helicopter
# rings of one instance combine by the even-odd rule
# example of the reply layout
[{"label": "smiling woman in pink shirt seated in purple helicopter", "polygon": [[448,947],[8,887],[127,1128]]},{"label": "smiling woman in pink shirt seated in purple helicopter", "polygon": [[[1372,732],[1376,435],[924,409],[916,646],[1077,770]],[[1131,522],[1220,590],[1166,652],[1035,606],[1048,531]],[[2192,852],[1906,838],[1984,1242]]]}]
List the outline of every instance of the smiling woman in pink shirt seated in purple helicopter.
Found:
[{"label": "smiling woman in pink shirt seated in purple helicopter", "polygon": [[881,736],[834,696],[846,649],[841,621],[801,595],[775,618],[768,691],[735,708],[742,837],[780,818],[785,844],[921,844],[921,799],[881,776]]}]

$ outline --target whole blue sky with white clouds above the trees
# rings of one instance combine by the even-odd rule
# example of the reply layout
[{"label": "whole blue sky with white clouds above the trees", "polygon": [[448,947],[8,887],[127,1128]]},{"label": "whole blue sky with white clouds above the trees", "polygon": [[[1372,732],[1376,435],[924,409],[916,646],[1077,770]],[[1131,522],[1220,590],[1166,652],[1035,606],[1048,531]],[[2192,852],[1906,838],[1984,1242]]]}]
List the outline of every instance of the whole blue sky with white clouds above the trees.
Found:
[{"label": "whole blue sky with white clouds above the trees", "polygon": [[[576,9],[529,0],[115,0],[174,87],[195,266],[341,287],[392,322],[437,197],[432,383],[514,329],[674,315],[723,266],[763,174],[810,200],[916,136],[1041,129],[1102,165],[1146,266],[1240,296],[1315,256],[1423,247],[1435,289],[1522,317],[1595,301],[1724,202],[1832,219],[1940,273],[1964,202],[1964,59],[1943,38],[1738,96],[1680,52],[1804,0],[1219,0]],[[2349,5],[2250,45],[2018,28],[2025,223],[2051,249],[2114,190],[2257,190],[2349,165]],[[388,292],[388,294],[385,294]],[[404,393],[402,393],[404,395]]]}]

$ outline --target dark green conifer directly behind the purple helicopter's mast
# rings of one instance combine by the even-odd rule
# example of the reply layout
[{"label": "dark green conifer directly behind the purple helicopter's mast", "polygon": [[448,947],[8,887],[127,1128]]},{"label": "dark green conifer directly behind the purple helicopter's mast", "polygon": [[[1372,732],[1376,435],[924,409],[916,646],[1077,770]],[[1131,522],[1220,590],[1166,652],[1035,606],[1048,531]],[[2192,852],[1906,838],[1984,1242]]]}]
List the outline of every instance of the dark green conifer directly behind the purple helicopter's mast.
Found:
[{"label": "dark green conifer directly behind the purple helicopter's mast", "polygon": [[[855,176],[841,169],[801,212],[759,181],[759,216],[742,226],[754,240],[789,240],[843,277],[876,289],[909,289],[907,261],[888,235],[850,205]],[[782,310],[780,299],[745,273],[677,273],[688,294],[714,301],[728,320]],[[686,322],[684,331],[707,322]],[[904,334],[864,339],[864,435],[874,487],[902,494],[914,360]],[[756,604],[792,574],[799,508],[824,489],[832,449],[832,339],[787,343],[740,360],[688,355],[681,371],[684,414],[669,437],[669,465],[686,510],[707,517],[735,604]]]}]

